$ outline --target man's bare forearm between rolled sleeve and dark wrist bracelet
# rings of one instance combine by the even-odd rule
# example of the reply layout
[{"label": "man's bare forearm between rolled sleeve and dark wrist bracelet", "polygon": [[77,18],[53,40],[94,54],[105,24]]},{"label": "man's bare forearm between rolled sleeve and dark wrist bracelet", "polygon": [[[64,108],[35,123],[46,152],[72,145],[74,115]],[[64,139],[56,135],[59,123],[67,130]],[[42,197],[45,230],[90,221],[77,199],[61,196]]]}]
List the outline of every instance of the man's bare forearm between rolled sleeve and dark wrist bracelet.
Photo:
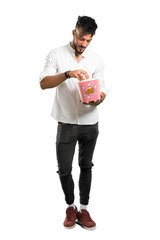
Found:
[{"label": "man's bare forearm between rolled sleeve and dark wrist bracelet", "polygon": [[57,87],[62,82],[64,82],[65,80],[66,80],[66,76],[64,73],[60,73],[55,76],[46,76],[40,82],[40,86],[43,90],[47,88],[54,88],[54,87]]}]

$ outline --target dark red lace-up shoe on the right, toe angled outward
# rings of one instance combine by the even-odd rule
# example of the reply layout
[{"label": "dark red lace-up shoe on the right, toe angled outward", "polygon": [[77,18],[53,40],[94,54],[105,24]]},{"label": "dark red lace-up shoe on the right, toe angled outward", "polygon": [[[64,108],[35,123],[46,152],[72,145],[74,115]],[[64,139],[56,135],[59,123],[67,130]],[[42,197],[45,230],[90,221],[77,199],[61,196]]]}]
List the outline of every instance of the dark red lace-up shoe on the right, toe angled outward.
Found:
[{"label": "dark red lace-up shoe on the right, toe angled outward", "polygon": [[87,230],[94,230],[96,228],[96,223],[92,220],[89,212],[85,209],[82,209],[81,212],[78,212],[77,219],[77,223]]}]

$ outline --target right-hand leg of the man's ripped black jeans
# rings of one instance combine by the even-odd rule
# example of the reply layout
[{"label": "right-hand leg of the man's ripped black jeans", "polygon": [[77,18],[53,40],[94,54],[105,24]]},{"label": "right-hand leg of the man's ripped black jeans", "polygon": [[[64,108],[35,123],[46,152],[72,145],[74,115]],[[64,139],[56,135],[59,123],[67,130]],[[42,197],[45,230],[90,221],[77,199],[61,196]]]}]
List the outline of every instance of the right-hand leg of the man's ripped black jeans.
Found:
[{"label": "right-hand leg of the man's ripped black jeans", "polygon": [[92,157],[98,137],[98,123],[94,125],[87,125],[81,130],[79,142],[79,190],[80,203],[87,205],[89,202],[89,193],[92,180]]}]

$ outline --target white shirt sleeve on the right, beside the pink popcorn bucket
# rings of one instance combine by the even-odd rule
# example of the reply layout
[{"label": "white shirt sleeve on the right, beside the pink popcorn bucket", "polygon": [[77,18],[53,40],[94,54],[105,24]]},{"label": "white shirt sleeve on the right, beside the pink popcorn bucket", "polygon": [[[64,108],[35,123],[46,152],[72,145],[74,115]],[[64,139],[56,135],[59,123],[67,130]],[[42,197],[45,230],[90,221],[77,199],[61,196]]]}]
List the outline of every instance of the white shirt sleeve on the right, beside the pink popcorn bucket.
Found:
[{"label": "white shirt sleeve on the right, beside the pink popcorn bucket", "polygon": [[104,81],[104,62],[103,60],[100,58],[97,64],[97,68],[93,74],[93,78],[98,78],[99,82],[100,82],[100,91],[105,93],[106,96],[108,95],[109,90],[106,89],[105,87],[105,81]]}]

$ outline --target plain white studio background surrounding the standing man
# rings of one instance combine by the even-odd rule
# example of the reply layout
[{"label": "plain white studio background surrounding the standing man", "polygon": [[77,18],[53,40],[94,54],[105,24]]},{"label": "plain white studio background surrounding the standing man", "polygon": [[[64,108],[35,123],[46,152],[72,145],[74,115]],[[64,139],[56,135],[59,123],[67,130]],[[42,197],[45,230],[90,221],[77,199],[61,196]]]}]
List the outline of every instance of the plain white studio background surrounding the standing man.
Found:
[{"label": "plain white studio background surrounding the standing man", "polygon": [[[160,8],[156,0],[1,1],[0,239],[160,239]],[[65,230],[50,117],[55,90],[39,74],[72,40],[78,15],[96,19],[91,48],[106,65],[89,211],[95,231]],[[79,207],[77,149],[75,203]]]}]

